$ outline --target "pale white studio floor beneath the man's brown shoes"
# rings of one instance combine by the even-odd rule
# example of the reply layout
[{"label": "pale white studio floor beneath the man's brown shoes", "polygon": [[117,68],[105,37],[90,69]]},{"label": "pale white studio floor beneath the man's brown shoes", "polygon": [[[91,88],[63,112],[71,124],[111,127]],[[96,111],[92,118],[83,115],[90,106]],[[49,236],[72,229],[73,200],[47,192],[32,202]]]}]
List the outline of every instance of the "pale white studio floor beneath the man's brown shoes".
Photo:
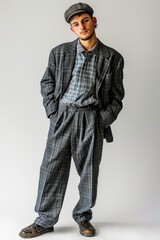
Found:
[{"label": "pale white studio floor beneath the man's brown shoes", "polygon": [[[160,227],[126,224],[93,223],[97,229],[94,240],[160,240]],[[24,227],[24,226],[23,226]],[[1,239],[18,240],[22,225],[19,219],[0,217]],[[57,224],[53,233],[39,236],[39,240],[83,240],[75,223]]]}]

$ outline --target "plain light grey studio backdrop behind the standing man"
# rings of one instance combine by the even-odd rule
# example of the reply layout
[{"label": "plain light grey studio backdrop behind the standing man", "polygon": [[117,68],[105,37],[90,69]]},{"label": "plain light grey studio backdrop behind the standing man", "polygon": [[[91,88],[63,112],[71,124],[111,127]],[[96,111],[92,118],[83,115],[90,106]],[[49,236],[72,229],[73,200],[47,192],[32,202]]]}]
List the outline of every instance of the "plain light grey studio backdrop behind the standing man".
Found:
[{"label": "plain light grey studio backdrop behind the standing man", "polygon": [[[49,120],[40,80],[50,50],[75,35],[64,11],[76,1],[0,1],[0,220],[20,228],[36,214]],[[124,109],[104,143],[94,221],[160,223],[159,0],[86,0],[97,36],[125,59]],[[72,165],[59,222],[72,222],[79,178]],[[20,229],[18,229],[19,231]]]}]

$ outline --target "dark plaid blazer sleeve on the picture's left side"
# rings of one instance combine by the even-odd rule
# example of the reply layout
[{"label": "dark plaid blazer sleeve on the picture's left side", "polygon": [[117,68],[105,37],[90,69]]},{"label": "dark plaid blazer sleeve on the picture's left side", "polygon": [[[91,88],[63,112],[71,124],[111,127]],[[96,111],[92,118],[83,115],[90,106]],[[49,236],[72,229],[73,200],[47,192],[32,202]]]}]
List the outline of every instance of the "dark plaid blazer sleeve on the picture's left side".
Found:
[{"label": "dark plaid blazer sleeve on the picture's left side", "polygon": [[53,50],[50,52],[47,69],[41,80],[41,94],[47,117],[56,112],[57,103],[54,98],[55,89],[55,59]]}]

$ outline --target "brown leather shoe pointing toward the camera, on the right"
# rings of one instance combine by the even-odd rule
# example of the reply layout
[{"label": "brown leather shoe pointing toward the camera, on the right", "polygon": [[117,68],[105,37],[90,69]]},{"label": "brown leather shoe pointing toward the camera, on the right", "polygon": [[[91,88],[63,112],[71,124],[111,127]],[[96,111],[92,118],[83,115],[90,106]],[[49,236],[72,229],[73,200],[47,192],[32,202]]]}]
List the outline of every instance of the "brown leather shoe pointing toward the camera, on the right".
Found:
[{"label": "brown leather shoe pointing toward the camera, on the right", "polygon": [[95,228],[87,220],[80,222],[79,224],[80,234],[85,237],[93,237],[96,234]]}]

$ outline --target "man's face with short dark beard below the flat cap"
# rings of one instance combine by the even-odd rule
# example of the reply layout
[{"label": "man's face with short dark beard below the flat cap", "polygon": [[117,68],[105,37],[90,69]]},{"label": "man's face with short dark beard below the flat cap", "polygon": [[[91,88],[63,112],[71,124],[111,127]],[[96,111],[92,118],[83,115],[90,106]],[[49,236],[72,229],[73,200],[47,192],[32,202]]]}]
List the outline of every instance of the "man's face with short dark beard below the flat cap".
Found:
[{"label": "man's face with short dark beard below the flat cap", "polygon": [[80,16],[73,16],[70,24],[72,32],[81,40],[86,41],[95,34],[97,20],[95,17],[91,18],[87,13],[82,13]]}]

